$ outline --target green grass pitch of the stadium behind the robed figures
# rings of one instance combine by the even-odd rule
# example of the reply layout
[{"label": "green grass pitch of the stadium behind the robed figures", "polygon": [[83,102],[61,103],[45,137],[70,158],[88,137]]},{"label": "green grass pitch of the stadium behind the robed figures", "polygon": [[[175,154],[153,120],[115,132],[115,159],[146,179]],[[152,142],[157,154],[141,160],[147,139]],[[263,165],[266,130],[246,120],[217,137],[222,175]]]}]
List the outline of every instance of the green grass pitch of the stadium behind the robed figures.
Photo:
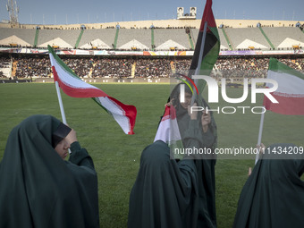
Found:
[{"label": "green grass pitch of the stadium behind the robed figures", "polygon": [[[63,96],[66,119],[77,131],[82,147],[93,157],[98,174],[99,214],[101,227],[126,227],[129,195],[139,170],[143,148],[153,142],[157,124],[170,93],[169,85],[97,84],[112,97],[138,110],[135,135],[125,135],[114,119],[90,98]],[[207,95],[207,91],[205,92]],[[241,97],[242,89],[228,89],[228,96]],[[54,84],[0,84],[0,160],[9,132],[31,114],[52,114],[61,119]],[[248,99],[243,104],[216,106],[261,106]],[[235,114],[215,114],[218,148],[255,147],[258,141],[260,114],[241,109]],[[265,145],[291,142],[303,146],[303,116],[267,112],[263,139]],[[216,172],[216,208],[218,227],[232,227],[238,198],[247,180],[253,159],[219,159]],[[9,174],[9,173],[8,173]]]}]

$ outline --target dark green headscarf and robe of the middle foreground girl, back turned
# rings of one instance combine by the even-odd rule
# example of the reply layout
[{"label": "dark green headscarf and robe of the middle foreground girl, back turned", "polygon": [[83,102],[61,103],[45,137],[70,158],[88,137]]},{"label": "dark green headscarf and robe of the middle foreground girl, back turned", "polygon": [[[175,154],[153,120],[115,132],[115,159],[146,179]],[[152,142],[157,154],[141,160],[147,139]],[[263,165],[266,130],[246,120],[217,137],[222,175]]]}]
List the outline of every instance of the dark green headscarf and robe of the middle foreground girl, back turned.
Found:
[{"label": "dark green headscarf and robe of the middle foreground girl, back turned", "polygon": [[[129,228],[198,227],[199,200],[196,166],[176,163],[170,148],[157,140],[145,148],[129,205]],[[196,195],[196,196],[193,196]]]}]

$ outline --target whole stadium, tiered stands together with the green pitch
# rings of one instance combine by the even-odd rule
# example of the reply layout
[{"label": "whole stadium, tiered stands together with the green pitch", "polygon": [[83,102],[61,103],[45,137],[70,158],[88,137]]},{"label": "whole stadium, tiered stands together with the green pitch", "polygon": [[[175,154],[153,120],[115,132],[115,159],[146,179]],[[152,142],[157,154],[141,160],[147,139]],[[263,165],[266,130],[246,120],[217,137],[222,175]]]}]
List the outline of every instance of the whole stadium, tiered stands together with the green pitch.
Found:
[{"label": "whole stadium, tiered stands together with the green pitch", "polygon": [[[196,13],[179,14],[179,8],[172,20],[45,25],[21,24],[11,18],[1,22],[0,158],[9,131],[27,116],[52,114],[61,118],[47,50],[52,46],[82,80],[137,107],[135,134],[127,136],[93,102],[62,93],[67,122],[77,131],[96,166],[100,227],[126,227],[140,155],[155,138],[170,95],[170,77],[174,72],[189,72],[198,42],[201,19]],[[215,22],[221,46],[210,76],[218,83],[226,79],[231,97],[241,97],[244,78],[266,78],[270,57],[304,72],[304,21]],[[205,90],[204,95],[207,97]],[[262,104],[260,94],[255,106]],[[227,104],[222,98],[218,106],[236,109],[238,104]],[[252,106],[250,98],[241,106]],[[215,114],[215,121],[218,148],[255,148],[259,114]],[[303,147],[303,124],[300,115],[267,112],[263,143],[291,142]],[[232,227],[254,158],[217,160],[218,227]]]}]

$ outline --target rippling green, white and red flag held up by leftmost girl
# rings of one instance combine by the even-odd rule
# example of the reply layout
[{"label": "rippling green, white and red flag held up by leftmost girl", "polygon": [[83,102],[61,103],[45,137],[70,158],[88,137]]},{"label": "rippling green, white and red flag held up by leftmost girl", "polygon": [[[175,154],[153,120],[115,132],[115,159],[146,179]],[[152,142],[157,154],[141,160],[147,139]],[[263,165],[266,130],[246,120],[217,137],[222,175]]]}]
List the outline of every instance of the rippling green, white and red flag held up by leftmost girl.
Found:
[{"label": "rippling green, white and red flag held up by leftmost girl", "polygon": [[92,97],[99,106],[121,126],[126,134],[134,134],[137,110],[135,106],[124,105],[114,97],[109,97],[103,90],[81,80],[48,46],[49,58],[52,64],[54,80],[58,82],[63,92],[70,97]]}]

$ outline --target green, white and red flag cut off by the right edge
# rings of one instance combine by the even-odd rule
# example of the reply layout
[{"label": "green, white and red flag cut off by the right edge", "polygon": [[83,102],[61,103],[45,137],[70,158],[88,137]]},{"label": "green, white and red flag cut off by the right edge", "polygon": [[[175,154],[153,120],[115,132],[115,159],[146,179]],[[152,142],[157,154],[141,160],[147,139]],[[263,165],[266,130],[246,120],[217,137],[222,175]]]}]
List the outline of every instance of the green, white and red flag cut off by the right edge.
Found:
[{"label": "green, white and red flag cut off by the right edge", "polygon": [[[264,106],[277,114],[304,114],[304,74],[270,58],[267,78],[278,83],[278,89],[271,95],[279,102],[272,103],[264,97]],[[271,85],[266,84],[266,87]]]}]

